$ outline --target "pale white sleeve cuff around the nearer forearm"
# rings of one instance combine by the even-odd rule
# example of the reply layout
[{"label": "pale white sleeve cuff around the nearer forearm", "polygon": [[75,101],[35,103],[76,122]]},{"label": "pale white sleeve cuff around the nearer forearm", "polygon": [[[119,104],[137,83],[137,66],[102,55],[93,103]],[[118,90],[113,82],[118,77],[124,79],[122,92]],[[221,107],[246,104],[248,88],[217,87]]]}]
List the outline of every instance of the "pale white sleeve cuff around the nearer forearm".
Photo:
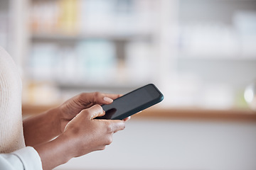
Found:
[{"label": "pale white sleeve cuff around the nearer forearm", "polygon": [[24,147],[9,154],[0,154],[0,169],[43,170],[41,158],[33,147]]}]

